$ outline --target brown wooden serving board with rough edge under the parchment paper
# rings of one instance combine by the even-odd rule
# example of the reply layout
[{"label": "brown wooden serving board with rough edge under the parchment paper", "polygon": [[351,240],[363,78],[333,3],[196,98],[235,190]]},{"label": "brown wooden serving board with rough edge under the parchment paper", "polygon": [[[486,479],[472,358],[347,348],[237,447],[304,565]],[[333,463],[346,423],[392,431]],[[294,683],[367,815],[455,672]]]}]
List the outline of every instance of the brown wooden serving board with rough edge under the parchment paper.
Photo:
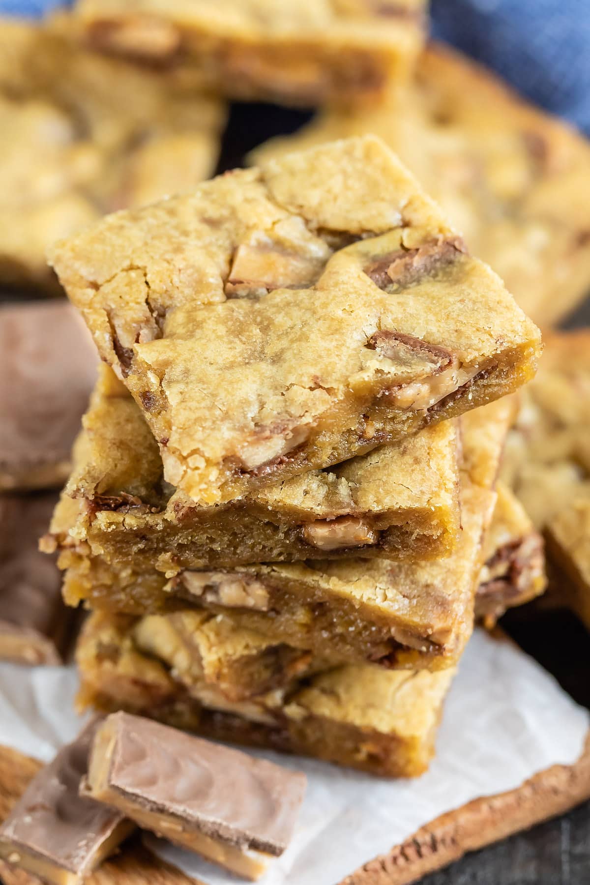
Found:
[{"label": "brown wooden serving board with rough edge under the parchment paper", "polygon": [[[4,820],[40,767],[34,759],[0,747],[0,820]],[[563,814],[589,798],[590,733],[575,765],[552,766],[518,789],[476,799],[443,814],[387,854],[359,867],[341,885],[410,885],[469,851]],[[4,885],[38,885],[34,876],[1,861],[0,877]],[[139,839],[131,839],[118,855],[88,877],[88,885],[194,885],[194,882],[154,857]]]}]

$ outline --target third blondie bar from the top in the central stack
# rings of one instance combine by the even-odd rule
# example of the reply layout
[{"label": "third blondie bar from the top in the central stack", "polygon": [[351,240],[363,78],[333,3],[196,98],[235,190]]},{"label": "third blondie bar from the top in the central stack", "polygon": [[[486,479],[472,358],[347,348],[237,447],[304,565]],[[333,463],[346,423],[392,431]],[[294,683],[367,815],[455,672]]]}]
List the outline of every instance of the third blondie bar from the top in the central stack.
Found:
[{"label": "third blondie bar from the top in the central stack", "polygon": [[274,643],[314,650],[320,658],[411,669],[451,666],[471,635],[482,536],[495,504],[490,487],[513,412],[514,404],[504,399],[463,419],[463,530],[446,559],[180,569],[169,577],[153,567],[110,564],[73,538],[60,558],[67,568],[65,598],[137,614],[193,605],[232,612],[237,625]]}]

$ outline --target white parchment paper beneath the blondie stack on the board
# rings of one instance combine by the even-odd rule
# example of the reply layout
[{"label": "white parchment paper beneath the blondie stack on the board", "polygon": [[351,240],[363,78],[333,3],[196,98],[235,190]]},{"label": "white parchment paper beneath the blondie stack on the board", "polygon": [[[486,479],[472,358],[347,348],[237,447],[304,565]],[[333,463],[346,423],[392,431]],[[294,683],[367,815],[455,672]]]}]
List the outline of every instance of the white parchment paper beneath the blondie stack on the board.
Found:
[{"label": "white parchment paper beneath the blondie stack on the board", "polygon": [[[0,743],[49,760],[81,727],[73,667],[0,666]],[[303,771],[308,789],[293,843],[264,885],[332,885],[443,812],[515,789],[534,773],[579,758],[590,725],[531,658],[477,632],[448,696],[437,758],[414,781],[383,781],[310,759],[259,756]],[[209,885],[236,879],[154,837],[151,848]]]}]

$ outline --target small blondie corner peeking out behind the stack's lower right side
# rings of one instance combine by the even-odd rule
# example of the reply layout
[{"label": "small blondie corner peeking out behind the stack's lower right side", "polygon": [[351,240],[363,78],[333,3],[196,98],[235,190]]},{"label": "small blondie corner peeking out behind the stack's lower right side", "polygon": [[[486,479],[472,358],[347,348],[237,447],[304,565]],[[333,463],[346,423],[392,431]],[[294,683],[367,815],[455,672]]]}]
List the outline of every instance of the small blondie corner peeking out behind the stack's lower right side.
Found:
[{"label": "small blondie corner peeking out behind the stack's lower right side", "polygon": [[517,497],[503,482],[496,487],[494,518],[484,543],[475,614],[493,626],[509,608],[540,596],[546,587],[543,538]]}]

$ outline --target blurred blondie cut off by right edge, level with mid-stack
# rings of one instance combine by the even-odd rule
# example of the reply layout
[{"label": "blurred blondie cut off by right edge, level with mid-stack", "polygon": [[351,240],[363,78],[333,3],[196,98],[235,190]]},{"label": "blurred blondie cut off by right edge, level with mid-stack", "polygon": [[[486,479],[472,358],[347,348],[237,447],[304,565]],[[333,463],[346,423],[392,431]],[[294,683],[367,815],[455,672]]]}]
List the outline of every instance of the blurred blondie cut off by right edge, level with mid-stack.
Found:
[{"label": "blurred blondie cut off by right edge, level with mid-stack", "polygon": [[540,375],[523,393],[503,466],[570,581],[565,602],[590,613],[590,333],[548,334]]}]

